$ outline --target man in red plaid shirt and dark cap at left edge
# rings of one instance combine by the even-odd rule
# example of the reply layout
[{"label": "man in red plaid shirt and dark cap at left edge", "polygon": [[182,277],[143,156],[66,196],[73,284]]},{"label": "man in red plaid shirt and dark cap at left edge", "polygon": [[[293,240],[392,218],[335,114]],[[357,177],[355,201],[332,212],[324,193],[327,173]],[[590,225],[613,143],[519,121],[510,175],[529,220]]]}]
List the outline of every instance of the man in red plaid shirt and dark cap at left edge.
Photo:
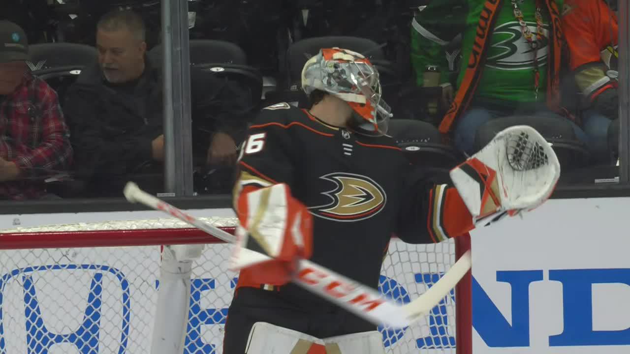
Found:
[{"label": "man in red plaid shirt and dark cap at left edge", "polygon": [[20,26],[0,21],[0,199],[53,197],[44,179],[72,161],[57,93],[26,67]]}]

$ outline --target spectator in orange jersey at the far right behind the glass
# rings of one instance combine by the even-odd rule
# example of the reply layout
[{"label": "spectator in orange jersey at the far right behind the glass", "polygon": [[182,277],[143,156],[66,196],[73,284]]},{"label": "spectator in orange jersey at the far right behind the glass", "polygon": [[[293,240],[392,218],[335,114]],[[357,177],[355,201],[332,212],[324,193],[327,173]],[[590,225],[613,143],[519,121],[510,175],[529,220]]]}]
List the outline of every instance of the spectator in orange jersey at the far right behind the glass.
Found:
[{"label": "spectator in orange jersey at the far right behind the glass", "polygon": [[604,0],[565,0],[562,25],[571,71],[583,97],[584,131],[597,159],[610,160],[608,129],[619,117],[617,16]]}]

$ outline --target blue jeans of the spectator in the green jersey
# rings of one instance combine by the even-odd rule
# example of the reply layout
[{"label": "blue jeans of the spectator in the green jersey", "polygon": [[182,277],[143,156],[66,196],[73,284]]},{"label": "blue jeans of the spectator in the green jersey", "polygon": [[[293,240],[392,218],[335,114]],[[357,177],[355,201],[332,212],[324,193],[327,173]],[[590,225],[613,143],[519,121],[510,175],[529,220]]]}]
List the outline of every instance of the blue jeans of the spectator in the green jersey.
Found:
[{"label": "blue jeans of the spectator in the green jersey", "polygon": [[[475,152],[477,152],[475,151],[474,142],[479,127],[489,122],[490,120],[501,117],[508,117],[513,114],[515,113],[507,113],[500,110],[486,110],[486,108],[481,107],[469,108],[469,110],[466,110],[462,117],[459,118],[459,122],[457,122],[457,125],[455,125],[455,147],[457,147],[457,149],[459,149],[460,151],[465,152],[468,156],[473,155]],[[549,116],[554,118],[566,119],[550,110],[537,111],[535,114],[539,117]],[[587,144],[587,147],[590,147],[590,139],[588,139],[587,134],[585,134],[585,132],[573,121],[568,120],[568,122],[570,122],[573,126],[573,130],[575,130],[575,135],[578,140]]]}]

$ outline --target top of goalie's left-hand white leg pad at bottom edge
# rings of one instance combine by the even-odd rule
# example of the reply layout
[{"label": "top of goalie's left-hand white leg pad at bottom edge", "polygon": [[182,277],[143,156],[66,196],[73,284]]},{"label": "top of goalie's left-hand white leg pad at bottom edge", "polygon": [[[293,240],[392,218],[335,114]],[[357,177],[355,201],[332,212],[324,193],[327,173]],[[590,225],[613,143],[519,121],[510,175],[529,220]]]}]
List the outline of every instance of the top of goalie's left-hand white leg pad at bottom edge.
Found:
[{"label": "top of goalie's left-hand white leg pad at bottom edge", "polygon": [[[326,354],[324,341],[292,329],[256,322],[249,332],[246,354]],[[358,352],[357,352],[358,353]]]}]

